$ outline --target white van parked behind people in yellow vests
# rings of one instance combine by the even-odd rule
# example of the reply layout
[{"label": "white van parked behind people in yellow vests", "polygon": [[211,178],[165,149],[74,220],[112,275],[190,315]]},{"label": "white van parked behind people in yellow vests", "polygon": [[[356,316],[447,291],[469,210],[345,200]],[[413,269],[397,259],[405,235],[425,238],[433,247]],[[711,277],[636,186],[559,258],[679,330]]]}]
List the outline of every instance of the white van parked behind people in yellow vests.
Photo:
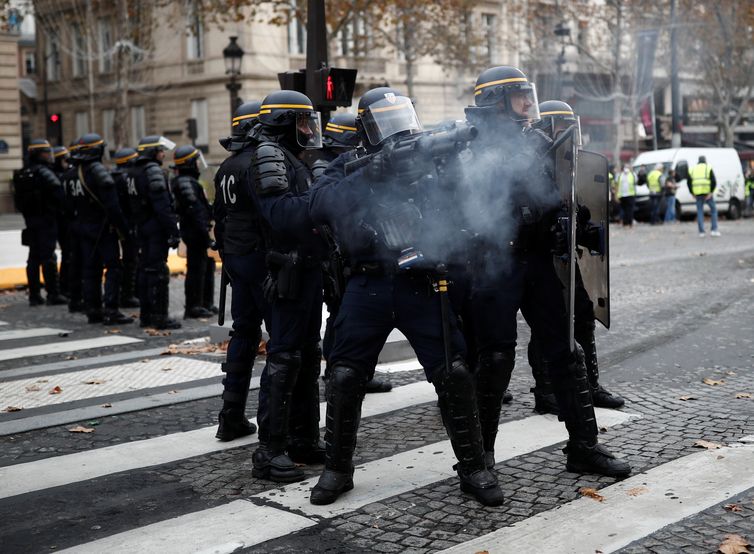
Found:
[{"label": "white van parked behind people in yellow vests", "polygon": [[[735,148],[667,148],[665,150],[650,150],[639,154],[633,163],[635,172],[644,169],[649,174],[655,165],[660,163],[666,170],[677,172],[679,180],[675,195],[676,217],[682,215],[696,215],[696,200],[689,190],[686,176],[698,161],[699,156],[706,156],[707,163],[715,172],[717,188],[715,189],[715,203],[720,214],[727,214],[729,219],[738,219],[744,207],[744,175],[741,160]],[[684,170],[685,167],[685,170]],[[681,178],[683,177],[683,178]],[[636,205],[648,208],[649,188],[646,185],[636,187]],[[661,206],[665,211],[664,200]],[[704,205],[704,211],[709,213],[709,206]]]}]

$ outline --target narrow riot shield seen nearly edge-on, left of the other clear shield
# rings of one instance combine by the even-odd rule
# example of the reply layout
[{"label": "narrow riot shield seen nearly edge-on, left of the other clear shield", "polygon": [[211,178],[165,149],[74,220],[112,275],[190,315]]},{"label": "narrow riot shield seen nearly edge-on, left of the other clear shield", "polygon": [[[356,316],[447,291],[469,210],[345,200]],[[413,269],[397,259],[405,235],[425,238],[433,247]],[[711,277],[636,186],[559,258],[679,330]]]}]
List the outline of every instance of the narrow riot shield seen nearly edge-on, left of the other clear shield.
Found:
[{"label": "narrow riot shield seen nearly edge-on, left of the other clear shield", "polygon": [[576,348],[574,341],[574,302],[576,291],[576,170],[578,148],[581,146],[579,125],[572,125],[553,144],[555,152],[555,183],[560,192],[563,210],[559,226],[566,233],[567,249],[561,256],[555,256],[555,270],[563,282],[563,294],[568,311],[568,341],[571,351]]}]

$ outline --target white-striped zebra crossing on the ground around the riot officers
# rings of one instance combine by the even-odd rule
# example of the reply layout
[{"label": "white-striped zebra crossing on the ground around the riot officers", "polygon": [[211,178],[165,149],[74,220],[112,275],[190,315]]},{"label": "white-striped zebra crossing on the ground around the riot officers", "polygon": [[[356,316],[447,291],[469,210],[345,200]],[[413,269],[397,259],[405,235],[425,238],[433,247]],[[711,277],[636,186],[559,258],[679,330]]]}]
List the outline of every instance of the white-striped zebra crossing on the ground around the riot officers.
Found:
[{"label": "white-striped zebra crossing on the ground around the riot officers", "polygon": [[[76,351],[79,344],[94,340],[57,340],[55,335],[61,332],[54,328],[40,329],[36,335],[13,329],[0,332],[0,359],[13,359],[3,358],[7,351],[28,352],[29,346],[18,346],[19,341],[27,339],[49,337],[52,344],[59,345],[57,350],[50,350],[37,343],[33,356],[39,352],[65,353],[62,345],[73,345],[70,351]],[[150,414],[150,408],[171,403],[170,397],[173,403],[183,402],[188,409],[194,406],[192,403],[219,394],[221,373],[216,360],[160,356],[160,349],[143,349],[139,344],[143,340],[133,337],[101,338],[110,340],[107,344],[131,345],[133,349],[99,360],[85,358],[79,360],[78,367],[47,360],[28,368],[9,368],[7,373],[0,371],[0,406],[23,408],[0,413],[0,445],[33,449],[34,437],[38,438],[31,432],[34,429],[86,421],[87,417],[107,420],[113,414]],[[3,350],[2,346],[7,348]],[[437,433],[422,434],[423,427],[441,429],[441,424],[434,387],[423,379],[421,366],[415,359],[408,359],[380,364],[378,370],[395,375],[400,382],[389,394],[366,397],[362,430],[367,437],[389,437],[386,440],[393,448],[384,453],[362,451],[355,469],[355,488],[335,504],[309,503],[319,467],[306,468],[308,478],[300,483],[283,486],[259,482],[251,476],[249,462],[257,435],[219,442],[214,438],[214,425],[198,424],[186,431],[126,439],[109,446],[83,446],[67,453],[50,449],[47,454],[37,453],[31,461],[2,461],[0,519],[7,525],[0,529],[0,544],[11,545],[3,551],[607,553],[621,551],[668,525],[754,490],[754,436],[742,435],[711,450],[679,450],[676,456],[648,464],[644,471],[639,468],[621,482],[585,477],[584,482],[596,487],[594,494],[565,495],[549,508],[541,505],[524,511],[524,499],[546,495],[548,488],[562,488],[558,483],[564,478],[562,469],[545,467],[539,471],[535,466],[548,456],[558,460],[555,465],[562,465],[558,449],[567,440],[567,433],[555,416],[532,415],[522,409],[522,400],[517,407],[506,408],[495,445],[496,474],[501,483],[506,483],[508,498],[500,508],[480,508],[458,490],[455,456],[447,438]],[[53,386],[61,391],[50,394]],[[166,387],[179,390],[166,391]],[[258,378],[253,382],[255,387]],[[185,396],[181,397],[180,391]],[[122,399],[124,394],[129,397]],[[104,408],[104,402],[111,407]],[[108,412],[119,403],[122,409]],[[325,411],[323,402],[322,425]],[[632,429],[651,426],[648,419],[652,415],[630,403],[623,411],[597,409],[596,414],[601,431],[608,437],[628,440]],[[152,417],[158,417],[157,413]],[[19,446],[22,444],[27,446]],[[233,474],[234,486],[240,492],[205,498],[199,483],[195,487],[189,478],[192,468],[202,466],[214,475]],[[159,476],[170,471],[184,476],[180,487],[175,481],[154,490],[141,484],[155,479],[159,483]],[[521,475],[525,478],[514,486],[511,480]],[[580,486],[580,476],[566,475],[571,475],[568,479],[574,489]],[[148,517],[134,516],[103,529],[100,520],[109,521],[104,511],[108,508],[85,496],[106,494],[113,483],[133,486],[135,501],[151,506]],[[191,501],[187,500],[186,488],[193,491]],[[423,509],[420,499],[426,493],[422,491],[432,490],[442,492]],[[130,496],[128,490],[120,493]],[[77,497],[80,504],[75,502]],[[19,507],[28,510],[45,498],[54,502],[72,498],[71,504],[66,504],[73,506],[71,513],[62,510],[54,517],[41,513],[39,521],[30,524],[33,533],[28,533],[29,524],[5,517]],[[441,513],[438,506],[455,509]],[[381,529],[383,516],[392,522],[389,530]],[[485,524],[472,525],[480,517]],[[45,536],[60,529],[69,518],[72,526],[79,525],[76,533]],[[401,518],[405,518],[405,524],[400,523]],[[81,525],[82,521],[86,524]],[[599,524],[585,525],[589,521]],[[358,522],[366,528],[361,539],[355,534],[355,529],[360,529]],[[405,537],[394,529],[403,529]],[[433,541],[422,538],[424,530]],[[334,539],[327,539],[330,535]],[[326,540],[334,540],[336,546],[328,542],[325,547],[318,542]]]}]

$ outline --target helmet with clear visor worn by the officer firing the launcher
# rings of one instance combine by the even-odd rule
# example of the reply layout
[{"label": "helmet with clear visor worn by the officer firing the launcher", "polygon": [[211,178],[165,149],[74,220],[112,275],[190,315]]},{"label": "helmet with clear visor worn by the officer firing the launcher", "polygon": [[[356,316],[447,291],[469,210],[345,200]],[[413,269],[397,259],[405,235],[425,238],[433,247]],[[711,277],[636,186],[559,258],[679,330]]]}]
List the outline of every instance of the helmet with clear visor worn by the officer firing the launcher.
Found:
[{"label": "helmet with clear visor worn by the officer firing the launcher", "polygon": [[372,146],[397,134],[422,130],[411,99],[390,87],[374,88],[361,97],[356,128]]}]

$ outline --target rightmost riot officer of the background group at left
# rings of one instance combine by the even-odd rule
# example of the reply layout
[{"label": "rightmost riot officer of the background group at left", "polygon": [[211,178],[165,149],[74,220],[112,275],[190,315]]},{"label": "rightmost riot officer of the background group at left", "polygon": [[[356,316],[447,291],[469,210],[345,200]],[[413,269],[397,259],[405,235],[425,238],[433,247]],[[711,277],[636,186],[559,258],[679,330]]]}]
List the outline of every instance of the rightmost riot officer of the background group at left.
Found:
[{"label": "rightmost riot officer of the background group at left", "polygon": [[204,188],[199,184],[199,173],[206,169],[201,151],[187,144],[179,146],[173,153],[175,178],[170,186],[175,198],[181,238],[186,243],[186,311],[184,318],[211,317],[212,312],[204,306],[212,304],[212,299],[205,299],[204,292],[214,290],[206,286],[207,279],[214,281],[214,263],[207,256],[207,249],[212,243],[209,235],[212,227],[212,214]]}]

